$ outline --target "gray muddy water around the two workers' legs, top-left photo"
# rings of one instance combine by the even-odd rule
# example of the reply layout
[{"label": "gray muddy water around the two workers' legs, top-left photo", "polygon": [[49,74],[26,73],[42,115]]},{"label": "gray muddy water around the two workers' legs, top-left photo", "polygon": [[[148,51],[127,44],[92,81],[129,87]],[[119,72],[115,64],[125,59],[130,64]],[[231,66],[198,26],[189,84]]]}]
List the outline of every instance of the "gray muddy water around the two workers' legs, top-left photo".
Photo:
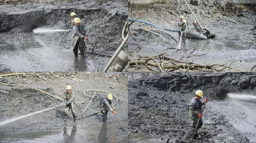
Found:
[{"label": "gray muddy water around the two workers' legs, top-left photo", "polygon": [[[54,33],[54,35],[53,35]],[[74,57],[71,38],[65,32],[18,35],[6,41],[0,37],[0,69],[12,71],[101,71],[109,57],[87,54],[86,58]],[[90,44],[87,44],[90,48]],[[79,51],[79,50],[78,50]],[[78,52],[79,53],[79,52]]]}]

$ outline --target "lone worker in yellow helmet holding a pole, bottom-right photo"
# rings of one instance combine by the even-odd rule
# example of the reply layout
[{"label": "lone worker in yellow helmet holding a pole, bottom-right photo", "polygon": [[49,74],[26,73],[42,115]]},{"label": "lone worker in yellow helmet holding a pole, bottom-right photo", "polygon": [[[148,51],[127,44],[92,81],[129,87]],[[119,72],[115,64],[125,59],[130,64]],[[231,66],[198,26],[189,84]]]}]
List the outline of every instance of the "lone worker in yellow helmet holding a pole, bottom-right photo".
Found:
[{"label": "lone worker in yellow helmet holding a pole, bottom-right photo", "polygon": [[189,125],[193,128],[196,127],[196,124],[199,120],[197,128],[201,128],[203,122],[202,122],[202,106],[209,101],[208,98],[205,98],[205,101],[202,102],[200,99],[203,97],[202,90],[197,90],[195,92],[195,97],[192,98],[192,100],[189,103]]}]

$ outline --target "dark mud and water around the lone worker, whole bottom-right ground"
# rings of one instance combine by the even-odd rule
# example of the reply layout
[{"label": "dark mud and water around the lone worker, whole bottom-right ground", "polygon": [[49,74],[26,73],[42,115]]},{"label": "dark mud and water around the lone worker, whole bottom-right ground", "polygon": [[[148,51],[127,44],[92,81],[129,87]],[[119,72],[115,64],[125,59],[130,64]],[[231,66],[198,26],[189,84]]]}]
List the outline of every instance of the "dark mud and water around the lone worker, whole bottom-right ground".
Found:
[{"label": "dark mud and water around the lone worker, whole bottom-right ground", "polygon": [[[252,114],[256,107],[255,73],[189,73],[188,77],[185,73],[136,72],[129,73],[128,89],[130,142],[256,141]],[[210,101],[204,109],[199,136],[191,139],[186,107],[198,89]],[[242,98],[229,98],[230,93]]]}]

